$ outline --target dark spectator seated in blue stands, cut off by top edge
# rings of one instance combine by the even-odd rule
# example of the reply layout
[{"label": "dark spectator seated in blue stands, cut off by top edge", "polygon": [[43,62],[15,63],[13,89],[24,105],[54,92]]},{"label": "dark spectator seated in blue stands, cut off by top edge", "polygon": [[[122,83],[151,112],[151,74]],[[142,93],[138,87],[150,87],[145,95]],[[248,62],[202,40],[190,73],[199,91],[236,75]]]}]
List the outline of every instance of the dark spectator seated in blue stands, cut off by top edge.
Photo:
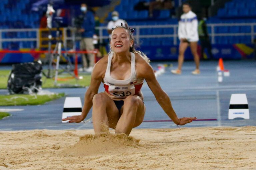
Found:
[{"label": "dark spectator seated in blue stands, cut off by top edge", "polygon": [[153,10],[154,9],[172,9],[172,0],[155,0],[149,3],[149,17],[153,17]]}]

